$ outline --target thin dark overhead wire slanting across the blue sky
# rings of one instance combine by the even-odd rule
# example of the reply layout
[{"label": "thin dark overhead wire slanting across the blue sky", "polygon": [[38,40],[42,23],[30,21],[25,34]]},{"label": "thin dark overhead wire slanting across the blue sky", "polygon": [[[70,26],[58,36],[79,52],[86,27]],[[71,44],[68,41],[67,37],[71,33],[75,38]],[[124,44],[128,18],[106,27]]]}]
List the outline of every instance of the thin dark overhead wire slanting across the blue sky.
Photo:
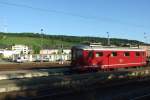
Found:
[{"label": "thin dark overhead wire slanting across the blue sky", "polygon": [[73,17],[79,17],[79,18],[82,18],[82,19],[96,20],[96,21],[98,20],[98,21],[103,21],[103,22],[107,22],[107,23],[115,23],[115,24],[128,25],[128,26],[132,26],[132,27],[149,29],[148,26],[123,22],[121,20],[117,20],[117,19],[113,19],[113,18],[109,18],[109,17],[85,16],[85,15],[80,15],[80,14],[75,14],[75,13],[70,13],[70,12],[33,7],[33,6],[30,6],[30,5],[10,3],[10,2],[5,2],[5,1],[0,1],[0,4],[7,5],[7,6],[23,7],[23,8],[33,9],[33,10],[37,10],[37,11],[42,11],[42,12],[58,13],[58,14],[63,14],[63,15],[68,15],[68,16],[73,16]]}]

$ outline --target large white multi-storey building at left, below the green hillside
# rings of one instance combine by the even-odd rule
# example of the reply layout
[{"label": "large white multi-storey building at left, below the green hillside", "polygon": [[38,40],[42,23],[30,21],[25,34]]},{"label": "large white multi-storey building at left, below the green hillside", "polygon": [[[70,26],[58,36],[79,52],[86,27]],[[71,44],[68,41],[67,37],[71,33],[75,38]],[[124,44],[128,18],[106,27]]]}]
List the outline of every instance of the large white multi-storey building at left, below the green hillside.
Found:
[{"label": "large white multi-storey building at left, below the green hillside", "polygon": [[31,51],[26,45],[14,45],[12,46],[12,50],[17,54],[29,54],[29,52]]}]

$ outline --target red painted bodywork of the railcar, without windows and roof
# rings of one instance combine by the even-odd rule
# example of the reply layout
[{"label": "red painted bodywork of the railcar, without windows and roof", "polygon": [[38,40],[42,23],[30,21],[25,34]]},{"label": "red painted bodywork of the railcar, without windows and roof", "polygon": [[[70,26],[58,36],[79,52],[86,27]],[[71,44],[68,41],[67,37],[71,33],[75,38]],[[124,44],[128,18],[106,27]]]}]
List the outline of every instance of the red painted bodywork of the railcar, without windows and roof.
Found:
[{"label": "red painted bodywork of the railcar, without windows and roof", "polygon": [[[72,65],[80,68],[123,68],[123,67],[135,67],[146,65],[146,52],[145,51],[126,51],[125,50],[92,50],[93,56],[88,57],[88,53],[91,50],[84,50],[78,48],[72,48],[72,51],[82,51],[82,57],[72,60]],[[96,52],[103,52],[103,56],[96,57]],[[117,56],[111,56],[112,52],[117,52]],[[124,56],[124,52],[129,52],[130,56]],[[136,52],[140,55],[136,56]]]}]

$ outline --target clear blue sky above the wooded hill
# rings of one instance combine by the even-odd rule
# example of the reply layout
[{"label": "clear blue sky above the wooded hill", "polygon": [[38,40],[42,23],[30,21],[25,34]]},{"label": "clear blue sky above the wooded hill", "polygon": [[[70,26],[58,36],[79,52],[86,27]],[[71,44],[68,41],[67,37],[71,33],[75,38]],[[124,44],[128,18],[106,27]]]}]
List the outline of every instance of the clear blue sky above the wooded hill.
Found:
[{"label": "clear blue sky above the wooded hill", "polygon": [[[133,39],[150,43],[150,0],[0,0],[1,32]],[[145,34],[144,34],[145,33]]]}]

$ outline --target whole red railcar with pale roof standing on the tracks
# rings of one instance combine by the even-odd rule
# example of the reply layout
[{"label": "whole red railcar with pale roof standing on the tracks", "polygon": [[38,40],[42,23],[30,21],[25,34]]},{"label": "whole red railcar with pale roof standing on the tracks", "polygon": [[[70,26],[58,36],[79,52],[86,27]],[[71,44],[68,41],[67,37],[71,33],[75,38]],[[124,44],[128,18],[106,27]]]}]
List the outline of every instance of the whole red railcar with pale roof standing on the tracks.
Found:
[{"label": "whole red railcar with pale roof standing on the tracks", "polygon": [[146,51],[139,48],[73,46],[71,64],[80,70],[145,66]]}]

